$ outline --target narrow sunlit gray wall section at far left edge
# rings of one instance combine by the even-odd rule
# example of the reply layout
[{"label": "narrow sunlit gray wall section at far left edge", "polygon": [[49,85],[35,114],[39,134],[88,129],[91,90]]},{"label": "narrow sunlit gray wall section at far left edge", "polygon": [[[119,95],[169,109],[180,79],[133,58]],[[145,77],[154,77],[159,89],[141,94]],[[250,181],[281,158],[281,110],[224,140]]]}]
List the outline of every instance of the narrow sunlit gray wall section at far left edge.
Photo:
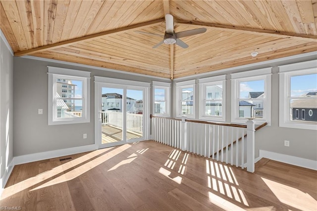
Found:
[{"label": "narrow sunlit gray wall section at far left edge", "polygon": [[[13,158],[13,56],[0,37],[0,180]],[[2,181],[3,182],[3,181]],[[2,188],[2,187],[0,187]]]}]

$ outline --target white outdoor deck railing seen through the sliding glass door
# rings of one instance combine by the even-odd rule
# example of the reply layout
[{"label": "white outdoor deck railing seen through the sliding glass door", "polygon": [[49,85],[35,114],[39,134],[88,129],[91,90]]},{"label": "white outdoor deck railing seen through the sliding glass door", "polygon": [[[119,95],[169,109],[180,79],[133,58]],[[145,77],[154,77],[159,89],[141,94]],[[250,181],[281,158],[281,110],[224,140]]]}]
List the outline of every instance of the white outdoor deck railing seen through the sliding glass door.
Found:
[{"label": "white outdoor deck railing seen through the sliding glass door", "polygon": [[[103,111],[102,125],[112,125],[122,128],[122,112]],[[127,113],[127,130],[142,133],[143,114]]]}]

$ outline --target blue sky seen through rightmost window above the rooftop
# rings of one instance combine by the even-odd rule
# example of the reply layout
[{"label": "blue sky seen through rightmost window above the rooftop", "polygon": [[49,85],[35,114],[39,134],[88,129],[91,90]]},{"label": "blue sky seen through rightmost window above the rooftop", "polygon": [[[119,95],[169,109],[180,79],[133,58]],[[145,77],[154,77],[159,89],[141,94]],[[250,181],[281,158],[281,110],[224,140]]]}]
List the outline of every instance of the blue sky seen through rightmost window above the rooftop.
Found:
[{"label": "blue sky seen through rightmost window above the rooftop", "polygon": [[317,74],[291,77],[291,97],[317,96]]}]

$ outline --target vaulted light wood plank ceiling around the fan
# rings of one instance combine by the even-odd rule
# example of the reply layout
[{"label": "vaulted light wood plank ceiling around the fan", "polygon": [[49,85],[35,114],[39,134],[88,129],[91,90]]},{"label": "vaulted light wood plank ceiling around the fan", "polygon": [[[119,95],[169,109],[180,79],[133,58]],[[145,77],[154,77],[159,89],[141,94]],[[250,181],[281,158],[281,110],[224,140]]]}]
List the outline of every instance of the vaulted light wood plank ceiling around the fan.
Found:
[{"label": "vaulted light wood plank ceiling around the fan", "polygon": [[[317,51],[317,0],[0,0],[16,56],[179,78]],[[189,48],[161,45],[164,15]],[[250,53],[258,52],[252,57]]]}]

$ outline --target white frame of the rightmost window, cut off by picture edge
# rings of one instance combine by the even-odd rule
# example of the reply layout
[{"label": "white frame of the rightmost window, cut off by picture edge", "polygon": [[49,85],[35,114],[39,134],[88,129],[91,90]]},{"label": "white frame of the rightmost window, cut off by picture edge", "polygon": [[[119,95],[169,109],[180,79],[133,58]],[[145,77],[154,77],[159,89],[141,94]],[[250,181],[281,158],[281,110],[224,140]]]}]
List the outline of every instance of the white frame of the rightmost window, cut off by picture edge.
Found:
[{"label": "white frame of the rightmost window, cut off by picture edge", "polygon": [[[316,122],[291,121],[291,77],[317,73],[317,59],[278,66],[279,68],[279,126],[288,128],[317,130]],[[310,97],[310,99],[317,97]],[[289,109],[288,109],[289,108]],[[299,111],[302,112],[302,111]]]}]

